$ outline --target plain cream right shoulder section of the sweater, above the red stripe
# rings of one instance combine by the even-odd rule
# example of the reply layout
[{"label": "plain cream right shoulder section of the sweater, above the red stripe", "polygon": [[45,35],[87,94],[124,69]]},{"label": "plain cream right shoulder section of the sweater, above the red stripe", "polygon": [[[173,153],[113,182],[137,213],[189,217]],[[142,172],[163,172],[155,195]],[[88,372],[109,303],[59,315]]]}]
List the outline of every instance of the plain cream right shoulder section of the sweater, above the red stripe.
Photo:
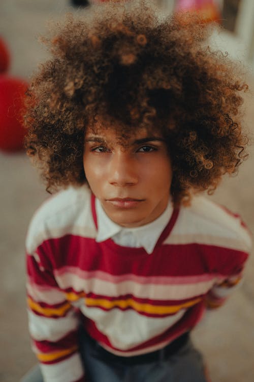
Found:
[{"label": "plain cream right shoulder section of the sweater, above the red stripe", "polygon": [[196,196],[181,207],[168,243],[201,243],[244,252],[251,249],[251,235],[241,217],[227,208]]}]

